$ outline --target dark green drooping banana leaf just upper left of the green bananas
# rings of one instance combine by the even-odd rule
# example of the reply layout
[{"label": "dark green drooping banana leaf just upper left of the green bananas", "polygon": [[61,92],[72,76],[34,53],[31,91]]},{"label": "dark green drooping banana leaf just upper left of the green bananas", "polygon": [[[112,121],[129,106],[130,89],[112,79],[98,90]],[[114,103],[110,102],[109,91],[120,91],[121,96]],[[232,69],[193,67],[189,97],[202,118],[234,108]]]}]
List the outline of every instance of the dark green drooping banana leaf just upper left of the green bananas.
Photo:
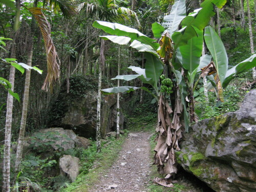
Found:
[{"label": "dark green drooping banana leaf just upper left of the green bananas", "polygon": [[145,63],[146,77],[151,78],[151,80],[148,82],[150,82],[153,85],[156,92],[158,93],[157,82],[159,80],[160,75],[163,72],[162,61],[158,57],[150,53],[145,52],[144,55],[146,58],[146,63]]}]

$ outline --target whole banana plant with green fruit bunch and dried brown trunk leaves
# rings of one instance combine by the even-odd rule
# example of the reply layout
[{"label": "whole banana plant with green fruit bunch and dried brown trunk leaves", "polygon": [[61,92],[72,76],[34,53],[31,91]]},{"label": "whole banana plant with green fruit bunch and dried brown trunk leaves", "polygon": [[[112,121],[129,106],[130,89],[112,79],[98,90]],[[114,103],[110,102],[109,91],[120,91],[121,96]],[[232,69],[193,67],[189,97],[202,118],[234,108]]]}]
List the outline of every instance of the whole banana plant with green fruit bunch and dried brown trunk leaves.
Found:
[{"label": "whole banana plant with green fruit bunch and dried brown trunk leaves", "polygon": [[[222,89],[226,88],[232,78],[256,65],[254,54],[228,70],[228,59],[220,37],[214,29],[206,27],[210,17],[215,14],[214,6],[222,8],[225,3],[225,0],[206,0],[200,9],[186,16],[185,0],[176,1],[170,15],[164,17],[163,27],[160,24],[154,24],[152,27],[154,36],[161,36],[159,43],[138,30],[120,24],[100,21],[93,24],[94,27],[111,34],[101,36],[102,39],[122,45],[131,42],[130,47],[144,52],[145,69],[131,66],[129,68],[136,72],[136,75],[119,75],[113,79],[132,80],[138,77],[154,89],[155,94],[151,94],[158,100],[156,131],[159,133],[155,147],[155,164],[158,165],[159,173],[164,174],[165,178],[161,182],[165,184],[177,173],[174,150],[180,150],[178,141],[182,138],[182,132],[184,129],[188,131],[190,122],[197,121],[193,92],[197,86],[194,80],[200,68],[204,67],[204,70],[199,78],[216,73],[215,83],[221,95]],[[160,35],[161,33],[163,34]],[[213,61],[209,55],[200,57],[203,37]],[[129,86],[101,91],[111,94],[137,89],[150,92],[145,87]]]}]

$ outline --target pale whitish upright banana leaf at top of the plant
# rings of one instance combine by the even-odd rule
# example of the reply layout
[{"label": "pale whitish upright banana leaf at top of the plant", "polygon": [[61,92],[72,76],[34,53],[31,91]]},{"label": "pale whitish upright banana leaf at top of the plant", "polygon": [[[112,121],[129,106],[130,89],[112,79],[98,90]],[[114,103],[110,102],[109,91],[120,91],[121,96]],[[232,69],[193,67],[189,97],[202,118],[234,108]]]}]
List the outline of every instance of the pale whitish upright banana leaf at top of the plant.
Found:
[{"label": "pale whitish upright banana leaf at top of the plant", "polygon": [[176,1],[169,15],[163,18],[163,27],[167,29],[170,36],[178,30],[182,19],[186,16],[185,0]]}]

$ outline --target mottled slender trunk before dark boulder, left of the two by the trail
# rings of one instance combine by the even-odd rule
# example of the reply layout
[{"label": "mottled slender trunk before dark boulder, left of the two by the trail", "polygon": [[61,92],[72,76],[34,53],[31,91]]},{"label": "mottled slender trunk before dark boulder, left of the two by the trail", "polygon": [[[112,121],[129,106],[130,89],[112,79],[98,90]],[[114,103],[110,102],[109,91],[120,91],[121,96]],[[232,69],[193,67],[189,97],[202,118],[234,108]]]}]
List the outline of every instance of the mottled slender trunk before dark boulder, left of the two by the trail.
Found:
[{"label": "mottled slender trunk before dark boulder, left of the two by the trail", "polygon": [[105,65],[105,56],[104,56],[104,49],[105,49],[105,41],[101,39],[101,46],[100,46],[100,58],[99,58],[99,83],[98,83],[98,98],[97,98],[97,127],[96,127],[96,145],[97,145],[97,152],[101,151],[100,147],[100,138],[101,138],[101,129],[100,129],[100,103],[101,103],[101,75],[102,75],[102,66]]}]

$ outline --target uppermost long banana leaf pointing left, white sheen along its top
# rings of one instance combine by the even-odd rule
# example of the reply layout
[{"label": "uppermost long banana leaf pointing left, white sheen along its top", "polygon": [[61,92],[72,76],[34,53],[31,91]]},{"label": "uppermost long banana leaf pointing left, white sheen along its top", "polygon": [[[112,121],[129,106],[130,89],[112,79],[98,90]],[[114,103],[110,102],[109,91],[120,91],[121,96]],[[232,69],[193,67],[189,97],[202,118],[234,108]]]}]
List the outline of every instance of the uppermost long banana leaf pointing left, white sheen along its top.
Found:
[{"label": "uppermost long banana leaf pointing left, white sheen along its top", "polygon": [[138,40],[143,44],[150,45],[154,50],[157,50],[159,44],[155,42],[155,39],[147,37],[146,35],[139,32],[137,29],[133,29],[121,24],[110,23],[110,22],[101,22],[96,20],[93,23],[93,27],[102,29],[106,33],[117,36],[127,36],[130,37],[132,41]]}]

